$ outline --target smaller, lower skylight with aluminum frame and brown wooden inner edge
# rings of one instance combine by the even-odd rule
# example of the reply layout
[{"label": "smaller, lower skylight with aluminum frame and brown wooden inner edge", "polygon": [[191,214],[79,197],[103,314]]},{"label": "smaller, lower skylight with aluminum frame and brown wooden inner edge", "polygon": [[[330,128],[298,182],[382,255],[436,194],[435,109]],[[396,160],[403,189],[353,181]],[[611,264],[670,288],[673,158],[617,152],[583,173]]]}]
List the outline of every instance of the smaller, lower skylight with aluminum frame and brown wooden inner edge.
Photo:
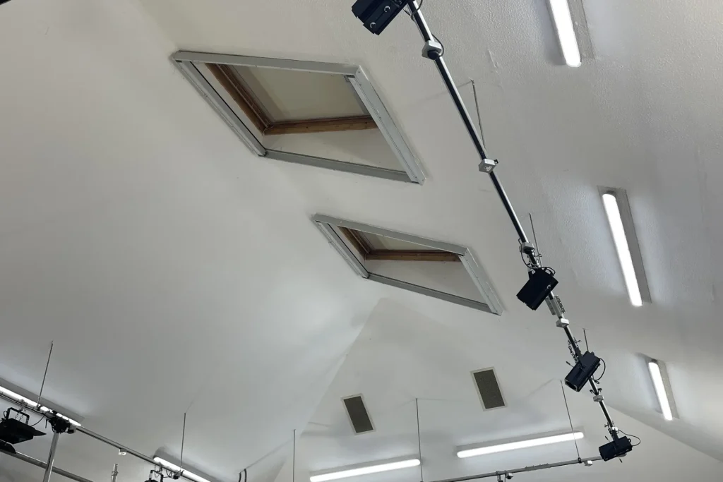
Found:
[{"label": "smaller, lower skylight with aluminum frame and brown wooden inner edge", "polygon": [[330,216],[315,215],[312,220],[349,266],[367,280],[502,313],[492,283],[464,246]]}]

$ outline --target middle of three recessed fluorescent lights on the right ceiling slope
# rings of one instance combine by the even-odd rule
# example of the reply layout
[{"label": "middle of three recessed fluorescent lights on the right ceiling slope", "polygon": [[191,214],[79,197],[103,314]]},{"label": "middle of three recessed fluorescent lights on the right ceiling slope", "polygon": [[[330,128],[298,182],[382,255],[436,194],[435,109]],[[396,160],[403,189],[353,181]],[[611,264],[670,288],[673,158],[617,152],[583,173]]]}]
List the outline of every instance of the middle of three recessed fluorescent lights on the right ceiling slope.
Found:
[{"label": "middle of three recessed fluorescent lights on the right ceiling slope", "polygon": [[624,189],[601,188],[602,204],[615,243],[617,259],[623,270],[625,288],[628,289],[630,304],[643,306],[650,302],[648,280],[643,267],[643,257],[638,244],[633,214],[630,212],[628,195]]}]

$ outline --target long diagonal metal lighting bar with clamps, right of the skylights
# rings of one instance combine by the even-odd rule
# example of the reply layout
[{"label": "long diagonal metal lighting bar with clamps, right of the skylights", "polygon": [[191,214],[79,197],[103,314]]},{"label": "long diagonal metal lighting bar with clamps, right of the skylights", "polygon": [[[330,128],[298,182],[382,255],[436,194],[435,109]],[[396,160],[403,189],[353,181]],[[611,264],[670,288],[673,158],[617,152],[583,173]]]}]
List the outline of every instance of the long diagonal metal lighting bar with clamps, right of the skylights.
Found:
[{"label": "long diagonal metal lighting bar with clamps, right of the skylights", "polygon": [[[467,111],[467,108],[464,106],[461,95],[459,94],[459,91],[455,86],[450,71],[447,68],[447,64],[445,63],[445,59],[442,56],[442,53],[444,53],[444,49],[439,48],[440,44],[435,39],[434,35],[432,35],[432,30],[429,30],[429,25],[427,25],[427,21],[424,20],[424,14],[422,14],[422,11],[419,9],[419,4],[417,3],[417,1],[409,0],[408,5],[411,12],[411,18],[412,20],[414,20],[414,23],[416,23],[416,26],[419,28],[419,33],[422,34],[422,38],[425,42],[424,49],[422,50],[422,55],[435,62],[437,70],[442,76],[442,81],[447,86],[447,90],[449,91],[449,94],[452,97],[455,106],[457,106],[457,111],[459,111],[459,115],[464,122],[467,132],[469,133],[469,137],[472,139],[474,147],[476,147],[477,153],[482,160],[482,163],[480,163],[480,170],[487,172],[489,174],[489,177],[492,179],[492,184],[494,184],[495,186],[497,195],[500,197],[502,205],[505,206],[505,210],[507,211],[510,221],[512,222],[512,225],[517,232],[522,253],[526,255],[529,260],[529,264],[532,267],[541,267],[539,264],[539,259],[536,256],[535,248],[529,242],[529,239],[527,238],[525,231],[522,228],[520,220],[517,218],[517,214],[515,214],[515,210],[512,207],[512,203],[510,202],[510,198],[507,196],[507,193],[505,193],[505,189],[502,187],[502,183],[500,183],[500,179],[497,177],[497,174],[494,171],[494,165],[496,164],[496,162],[487,158],[487,152],[485,152],[484,150],[482,137],[480,137],[479,132],[477,132],[477,130],[474,128],[474,122],[472,121],[471,116]],[[430,54],[430,52],[432,54]],[[580,346],[578,345],[577,340],[575,339],[575,337],[573,337],[573,333],[570,332],[570,322],[564,316],[565,310],[562,309],[562,304],[560,304],[560,301],[558,301],[557,297],[553,293],[549,294],[547,298],[547,304],[550,310],[554,311],[555,315],[557,316],[557,326],[565,330],[565,335],[568,337],[568,341],[573,347],[573,358],[575,358],[575,360],[577,361],[577,359],[582,356],[582,352],[580,350]],[[607,410],[607,405],[605,405],[602,395],[600,395],[600,390],[598,389],[597,384],[593,382],[592,379],[589,379],[589,384],[590,389],[594,395],[593,400],[596,401],[596,403],[599,403],[600,408],[602,409],[602,413],[607,420],[607,429],[610,436],[612,436],[613,439],[617,439],[617,427],[612,421],[612,417]]]}]

